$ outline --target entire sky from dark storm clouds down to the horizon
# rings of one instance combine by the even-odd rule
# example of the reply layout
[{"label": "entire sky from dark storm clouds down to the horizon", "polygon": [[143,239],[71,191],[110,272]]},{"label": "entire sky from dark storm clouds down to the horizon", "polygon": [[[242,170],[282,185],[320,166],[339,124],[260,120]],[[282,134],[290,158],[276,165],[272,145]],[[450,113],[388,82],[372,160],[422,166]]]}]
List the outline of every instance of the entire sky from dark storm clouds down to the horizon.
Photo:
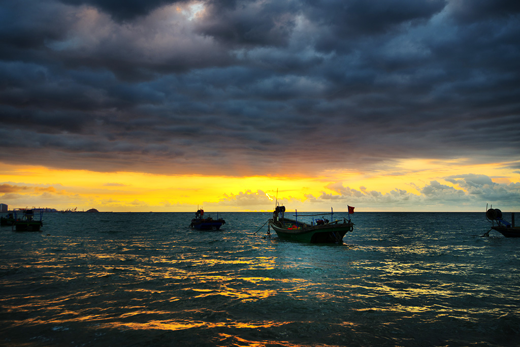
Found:
[{"label": "entire sky from dark storm clouds down to the horizon", "polygon": [[520,211],[517,0],[0,0],[0,202]]}]

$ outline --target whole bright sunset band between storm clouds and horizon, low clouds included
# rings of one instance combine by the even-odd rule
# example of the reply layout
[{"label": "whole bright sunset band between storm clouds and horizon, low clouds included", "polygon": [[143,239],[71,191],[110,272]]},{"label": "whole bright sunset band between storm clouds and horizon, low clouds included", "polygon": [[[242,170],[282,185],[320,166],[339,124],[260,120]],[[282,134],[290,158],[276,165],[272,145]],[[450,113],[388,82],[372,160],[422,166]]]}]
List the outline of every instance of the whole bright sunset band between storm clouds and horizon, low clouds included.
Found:
[{"label": "whole bright sunset band between storm clouds and horizon, low clouds included", "polygon": [[[10,207],[33,203],[58,210],[94,207],[114,212],[186,212],[198,205],[208,211],[270,211],[277,190],[280,204],[302,211],[346,211],[347,204],[365,212],[484,211],[485,200],[472,199],[475,190],[482,191],[477,196],[505,194],[518,189],[513,182],[519,176],[508,175],[499,164],[425,160],[402,162],[395,172],[324,171],[314,177],[107,173],[5,164],[2,169],[0,188]],[[487,175],[464,174],[466,170]],[[501,202],[502,209],[518,207],[514,201]]]}]

